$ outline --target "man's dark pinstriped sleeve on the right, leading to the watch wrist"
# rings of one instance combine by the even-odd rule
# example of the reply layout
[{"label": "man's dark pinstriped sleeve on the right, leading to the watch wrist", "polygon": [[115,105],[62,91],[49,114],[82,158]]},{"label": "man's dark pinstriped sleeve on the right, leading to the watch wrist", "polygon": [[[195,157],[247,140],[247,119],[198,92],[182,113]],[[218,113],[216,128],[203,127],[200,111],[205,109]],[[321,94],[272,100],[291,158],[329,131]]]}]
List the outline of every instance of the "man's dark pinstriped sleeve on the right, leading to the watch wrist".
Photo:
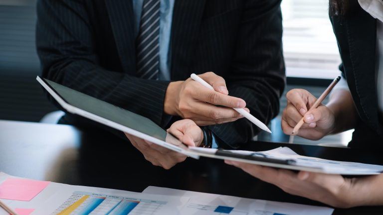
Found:
[{"label": "man's dark pinstriped sleeve on the right, leading to the watch wrist", "polygon": [[[224,77],[229,95],[245,100],[251,114],[269,123],[279,112],[285,86],[280,0],[246,2],[231,67]],[[249,142],[260,131],[245,118],[209,128],[231,148]]]}]

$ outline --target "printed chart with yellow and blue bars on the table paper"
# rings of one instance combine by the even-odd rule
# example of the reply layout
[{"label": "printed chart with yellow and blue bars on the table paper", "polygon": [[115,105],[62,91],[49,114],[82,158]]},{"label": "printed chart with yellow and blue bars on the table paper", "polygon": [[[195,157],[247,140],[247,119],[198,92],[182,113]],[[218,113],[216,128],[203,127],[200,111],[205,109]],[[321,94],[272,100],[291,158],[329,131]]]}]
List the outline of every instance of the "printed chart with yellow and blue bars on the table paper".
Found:
[{"label": "printed chart with yellow and blue bars on the table paper", "polygon": [[54,215],[155,215],[167,202],[74,192]]}]

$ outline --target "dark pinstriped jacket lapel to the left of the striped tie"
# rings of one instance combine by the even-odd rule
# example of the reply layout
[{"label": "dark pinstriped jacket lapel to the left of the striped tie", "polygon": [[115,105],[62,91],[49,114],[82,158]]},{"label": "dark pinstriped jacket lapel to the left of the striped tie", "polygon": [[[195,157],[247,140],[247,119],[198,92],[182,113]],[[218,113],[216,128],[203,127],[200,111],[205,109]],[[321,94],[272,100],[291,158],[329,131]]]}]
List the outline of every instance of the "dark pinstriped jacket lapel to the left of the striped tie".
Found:
[{"label": "dark pinstriped jacket lapel to the left of the striped tie", "polygon": [[123,72],[135,75],[136,46],[131,0],[105,0]]}]

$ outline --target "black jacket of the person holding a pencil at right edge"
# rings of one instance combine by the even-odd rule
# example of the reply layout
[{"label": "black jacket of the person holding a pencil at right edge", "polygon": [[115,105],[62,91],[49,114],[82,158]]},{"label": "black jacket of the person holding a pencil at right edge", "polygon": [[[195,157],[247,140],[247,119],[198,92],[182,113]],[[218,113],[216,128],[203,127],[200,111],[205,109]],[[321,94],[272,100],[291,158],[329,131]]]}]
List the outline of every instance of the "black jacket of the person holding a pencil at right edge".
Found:
[{"label": "black jacket of the person holding a pencil at right edge", "polygon": [[359,115],[349,146],[383,147],[375,71],[377,21],[357,0],[350,1],[350,8],[348,15],[331,17],[343,62],[340,69]]}]

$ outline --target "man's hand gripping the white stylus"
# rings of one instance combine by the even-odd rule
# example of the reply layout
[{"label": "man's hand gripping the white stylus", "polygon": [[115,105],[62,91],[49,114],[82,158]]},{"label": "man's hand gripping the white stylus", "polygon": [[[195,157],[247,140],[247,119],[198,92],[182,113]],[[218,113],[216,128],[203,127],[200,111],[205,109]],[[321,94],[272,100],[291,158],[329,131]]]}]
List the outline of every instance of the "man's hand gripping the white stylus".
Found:
[{"label": "man's hand gripping the white stylus", "polygon": [[[222,77],[212,72],[199,77],[209,83],[215,91],[191,78],[171,82],[165,95],[165,113],[192,119],[197,125],[220,124],[243,117],[232,108],[245,108],[245,101],[228,96],[229,92]],[[249,111],[247,108],[246,110]]]}]

